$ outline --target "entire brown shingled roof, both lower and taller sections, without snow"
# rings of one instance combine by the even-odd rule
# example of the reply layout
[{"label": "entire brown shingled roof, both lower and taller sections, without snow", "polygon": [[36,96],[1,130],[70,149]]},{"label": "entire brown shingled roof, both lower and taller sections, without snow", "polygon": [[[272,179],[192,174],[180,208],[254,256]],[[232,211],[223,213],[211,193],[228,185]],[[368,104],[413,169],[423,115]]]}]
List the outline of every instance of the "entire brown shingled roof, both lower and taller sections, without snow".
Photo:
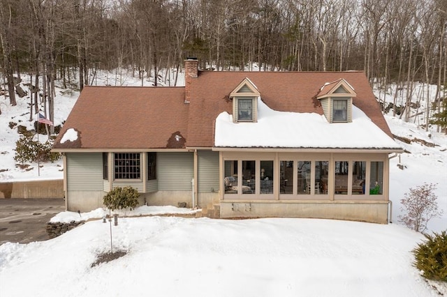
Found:
[{"label": "entire brown shingled roof, both lower and taller sections, without snow", "polygon": [[[199,71],[191,79],[189,104],[184,87],[86,86],[53,148],[212,147],[215,119],[221,112],[232,113],[229,95],[246,77],[270,108],[316,114],[323,114],[316,99],[321,87],[343,78],[356,91],[353,104],[393,137],[362,72]],[[61,144],[68,128],[75,128],[80,140]]]}]

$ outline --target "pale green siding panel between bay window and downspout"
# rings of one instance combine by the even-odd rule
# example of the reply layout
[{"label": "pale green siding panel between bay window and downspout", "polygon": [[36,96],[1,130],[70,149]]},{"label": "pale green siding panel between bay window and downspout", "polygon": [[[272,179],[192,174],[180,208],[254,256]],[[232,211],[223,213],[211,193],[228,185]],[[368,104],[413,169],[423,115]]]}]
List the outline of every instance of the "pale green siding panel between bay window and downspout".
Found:
[{"label": "pale green siding panel between bay window and downspout", "polygon": [[192,189],[193,153],[158,153],[159,191]]}]

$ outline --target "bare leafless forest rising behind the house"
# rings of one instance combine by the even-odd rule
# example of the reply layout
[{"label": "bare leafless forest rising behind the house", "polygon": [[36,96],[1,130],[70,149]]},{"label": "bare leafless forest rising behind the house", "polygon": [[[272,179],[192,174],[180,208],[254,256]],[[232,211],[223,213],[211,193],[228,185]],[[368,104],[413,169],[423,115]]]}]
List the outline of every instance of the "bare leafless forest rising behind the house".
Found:
[{"label": "bare leafless forest rising behind the house", "polygon": [[413,83],[435,84],[420,94],[435,98],[428,127],[446,101],[446,10],[447,0],[1,0],[0,95],[16,105],[30,74],[30,108],[43,102],[53,120],[55,81],[82,91],[97,70],[131,68],[156,86],[161,68],[178,73],[193,56],[212,70],[364,70],[384,90],[397,84],[404,121]]}]

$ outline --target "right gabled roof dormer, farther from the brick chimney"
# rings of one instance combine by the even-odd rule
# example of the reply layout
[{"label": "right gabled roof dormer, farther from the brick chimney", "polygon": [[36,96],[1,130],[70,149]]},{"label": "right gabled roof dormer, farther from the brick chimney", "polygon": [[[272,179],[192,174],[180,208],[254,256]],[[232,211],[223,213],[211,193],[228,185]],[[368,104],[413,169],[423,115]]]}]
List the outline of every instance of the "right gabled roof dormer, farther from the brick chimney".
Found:
[{"label": "right gabled roof dormer, farther from the brick chimney", "polygon": [[320,100],[329,123],[351,123],[352,98],[356,96],[351,84],[341,78],[324,84],[316,98]]}]

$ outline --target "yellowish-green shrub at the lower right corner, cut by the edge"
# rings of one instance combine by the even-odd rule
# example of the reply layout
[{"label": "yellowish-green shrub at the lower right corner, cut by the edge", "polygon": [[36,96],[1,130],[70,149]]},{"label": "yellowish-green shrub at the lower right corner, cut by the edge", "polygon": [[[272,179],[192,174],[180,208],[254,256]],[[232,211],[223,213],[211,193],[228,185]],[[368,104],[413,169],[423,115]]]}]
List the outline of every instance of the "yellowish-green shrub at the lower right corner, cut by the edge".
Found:
[{"label": "yellowish-green shrub at the lower right corner, cut by the edge", "polygon": [[425,238],[427,241],[412,251],[416,258],[414,266],[429,280],[447,282],[447,233],[425,234]]}]

